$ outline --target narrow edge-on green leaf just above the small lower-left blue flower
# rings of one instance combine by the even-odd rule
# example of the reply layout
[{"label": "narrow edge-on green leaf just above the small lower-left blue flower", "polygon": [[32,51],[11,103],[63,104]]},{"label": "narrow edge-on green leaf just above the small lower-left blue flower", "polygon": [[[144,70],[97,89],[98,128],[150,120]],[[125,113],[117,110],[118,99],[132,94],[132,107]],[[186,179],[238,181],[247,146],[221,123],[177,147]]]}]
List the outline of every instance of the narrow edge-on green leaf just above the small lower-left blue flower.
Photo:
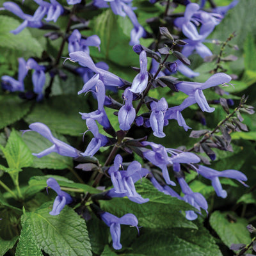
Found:
[{"label": "narrow edge-on green leaf just above the small lower-left blue flower", "polygon": [[[80,192],[80,193],[82,193],[82,192],[83,193],[88,193],[89,192],[89,193],[92,193],[92,194],[99,194],[99,193],[102,192],[99,189],[93,188],[93,187],[88,186],[86,184],[75,183],[72,180],[68,180],[67,178],[61,177],[61,176],[58,176],[58,175],[44,175],[44,176],[32,177],[29,180],[28,191],[31,191],[32,189],[35,189],[35,193],[36,193],[36,191],[40,191],[41,189],[44,189],[47,186],[46,180],[51,178],[51,177],[56,179],[61,187],[70,188],[70,191],[75,191],[76,192],[76,190],[77,190],[77,192]],[[72,190],[72,188],[74,188],[74,189]]]}]

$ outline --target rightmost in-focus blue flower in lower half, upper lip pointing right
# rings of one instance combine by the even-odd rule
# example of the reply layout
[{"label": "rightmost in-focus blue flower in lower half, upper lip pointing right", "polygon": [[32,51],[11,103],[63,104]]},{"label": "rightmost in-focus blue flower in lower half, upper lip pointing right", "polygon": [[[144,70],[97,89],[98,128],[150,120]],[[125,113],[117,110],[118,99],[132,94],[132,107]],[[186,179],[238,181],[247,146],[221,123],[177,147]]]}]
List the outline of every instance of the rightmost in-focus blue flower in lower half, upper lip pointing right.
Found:
[{"label": "rightmost in-focus blue flower in lower half, upper lip pointing right", "polygon": [[227,191],[225,191],[220,183],[220,179],[219,177],[226,177],[226,178],[231,178],[231,179],[236,179],[239,182],[241,182],[242,184],[244,184],[243,181],[247,180],[247,177],[237,171],[237,170],[225,170],[222,172],[218,172],[214,169],[211,169],[209,167],[205,167],[200,165],[197,169],[197,172],[202,175],[203,177],[205,177],[206,179],[211,180],[212,182],[212,187],[215,189],[216,194],[222,198],[226,198],[227,197]]}]

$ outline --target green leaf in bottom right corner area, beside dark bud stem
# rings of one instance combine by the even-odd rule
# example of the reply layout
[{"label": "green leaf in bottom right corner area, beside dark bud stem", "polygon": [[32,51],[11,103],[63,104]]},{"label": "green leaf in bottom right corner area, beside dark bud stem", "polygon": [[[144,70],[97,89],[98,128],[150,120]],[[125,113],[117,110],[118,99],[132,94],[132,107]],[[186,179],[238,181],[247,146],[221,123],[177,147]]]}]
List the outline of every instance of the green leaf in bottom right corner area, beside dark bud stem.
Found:
[{"label": "green leaf in bottom right corner area, beside dark bud stem", "polygon": [[[230,220],[228,214],[232,216]],[[246,229],[247,221],[236,216],[234,212],[215,211],[210,216],[210,224],[228,248],[231,244],[248,244],[251,241],[250,233]]]}]

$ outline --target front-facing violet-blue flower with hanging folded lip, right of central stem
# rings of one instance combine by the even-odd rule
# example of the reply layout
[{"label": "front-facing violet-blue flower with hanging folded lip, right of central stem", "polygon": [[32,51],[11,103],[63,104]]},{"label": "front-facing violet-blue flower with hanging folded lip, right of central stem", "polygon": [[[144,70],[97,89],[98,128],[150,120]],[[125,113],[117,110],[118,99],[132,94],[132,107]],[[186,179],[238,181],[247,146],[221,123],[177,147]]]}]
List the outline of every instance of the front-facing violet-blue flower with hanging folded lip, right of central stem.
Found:
[{"label": "front-facing violet-blue flower with hanging folded lip, right of central stem", "polygon": [[153,101],[150,104],[151,114],[149,118],[150,126],[154,131],[153,134],[156,137],[163,138],[165,134],[163,132],[164,128],[164,115],[165,111],[168,109],[168,103],[166,99],[161,98],[158,102]]}]

